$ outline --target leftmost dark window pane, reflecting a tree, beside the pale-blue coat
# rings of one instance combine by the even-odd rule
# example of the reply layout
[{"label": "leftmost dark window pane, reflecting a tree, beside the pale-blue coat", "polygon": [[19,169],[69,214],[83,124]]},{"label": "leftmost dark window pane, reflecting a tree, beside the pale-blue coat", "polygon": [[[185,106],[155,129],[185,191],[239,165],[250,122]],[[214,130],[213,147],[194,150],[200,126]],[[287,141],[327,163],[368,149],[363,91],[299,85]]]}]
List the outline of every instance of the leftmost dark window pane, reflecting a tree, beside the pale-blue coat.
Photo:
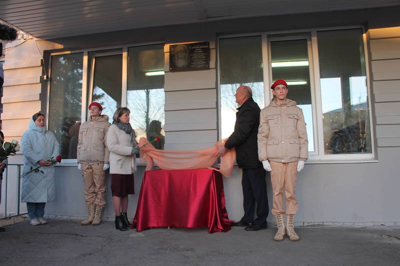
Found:
[{"label": "leftmost dark window pane, reflecting a tree, beside the pale-blue coat", "polygon": [[76,158],[82,101],[83,53],[51,56],[48,130],[64,159]]}]

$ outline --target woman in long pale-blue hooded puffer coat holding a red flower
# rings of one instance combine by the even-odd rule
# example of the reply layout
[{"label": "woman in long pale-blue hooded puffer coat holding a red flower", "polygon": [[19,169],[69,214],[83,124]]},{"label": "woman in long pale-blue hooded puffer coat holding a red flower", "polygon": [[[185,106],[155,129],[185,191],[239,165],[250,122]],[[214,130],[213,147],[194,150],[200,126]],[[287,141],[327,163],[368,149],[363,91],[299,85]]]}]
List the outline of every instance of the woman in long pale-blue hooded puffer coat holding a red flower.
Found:
[{"label": "woman in long pale-blue hooded puffer coat holding a red flower", "polygon": [[46,224],[43,219],[46,202],[55,195],[54,165],[51,160],[59,154],[54,134],[44,127],[44,115],[35,113],[29,121],[28,130],[21,138],[23,173],[38,166],[40,171],[31,172],[22,179],[21,202],[26,202],[30,224]]}]

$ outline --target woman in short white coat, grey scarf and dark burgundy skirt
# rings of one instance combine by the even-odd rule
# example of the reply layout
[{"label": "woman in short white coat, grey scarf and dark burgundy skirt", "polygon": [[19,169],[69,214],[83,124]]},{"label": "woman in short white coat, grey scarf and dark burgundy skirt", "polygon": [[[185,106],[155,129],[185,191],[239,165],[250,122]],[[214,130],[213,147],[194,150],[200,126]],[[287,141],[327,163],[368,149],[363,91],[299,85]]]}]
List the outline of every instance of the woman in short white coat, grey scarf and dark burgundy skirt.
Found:
[{"label": "woman in short white coat, grey scarf and dark burgundy skirt", "polygon": [[134,194],[133,173],[136,172],[138,152],[136,135],[129,124],[130,111],[126,107],[116,109],[112,125],[107,132],[109,173],[111,174],[111,195],[115,211],[115,229],[129,230],[126,211],[128,194]]}]

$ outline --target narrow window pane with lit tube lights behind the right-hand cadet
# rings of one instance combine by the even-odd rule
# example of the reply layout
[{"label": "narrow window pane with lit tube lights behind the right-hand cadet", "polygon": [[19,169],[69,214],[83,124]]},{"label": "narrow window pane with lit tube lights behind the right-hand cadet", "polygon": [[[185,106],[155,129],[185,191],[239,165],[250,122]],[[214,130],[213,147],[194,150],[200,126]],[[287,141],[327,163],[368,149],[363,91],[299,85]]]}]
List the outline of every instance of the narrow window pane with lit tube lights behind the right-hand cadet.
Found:
[{"label": "narrow window pane with lit tube lights behind the right-hand cadet", "polygon": [[287,82],[287,98],[302,109],[308,137],[308,151],[314,151],[311,86],[307,40],[271,41],[272,80]]}]

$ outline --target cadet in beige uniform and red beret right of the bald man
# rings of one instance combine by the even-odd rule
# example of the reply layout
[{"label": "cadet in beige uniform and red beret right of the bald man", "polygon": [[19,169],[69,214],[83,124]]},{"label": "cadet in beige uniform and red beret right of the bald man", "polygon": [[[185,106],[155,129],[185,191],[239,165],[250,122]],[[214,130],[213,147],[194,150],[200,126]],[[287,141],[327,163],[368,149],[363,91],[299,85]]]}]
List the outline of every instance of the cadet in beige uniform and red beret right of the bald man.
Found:
[{"label": "cadet in beige uniform and red beret right of the bald man", "polygon": [[[295,188],[297,172],[301,171],[308,158],[307,132],[303,112],[295,101],[286,98],[287,83],[276,80],[271,89],[275,98],[260,112],[258,159],[264,169],[271,172],[272,214],[278,225],[273,239],[282,241],[287,234],[291,241],[298,241],[293,225],[293,216],[298,210]],[[286,211],[283,210],[283,190]],[[286,226],[283,223],[284,214],[287,217]]]}]

